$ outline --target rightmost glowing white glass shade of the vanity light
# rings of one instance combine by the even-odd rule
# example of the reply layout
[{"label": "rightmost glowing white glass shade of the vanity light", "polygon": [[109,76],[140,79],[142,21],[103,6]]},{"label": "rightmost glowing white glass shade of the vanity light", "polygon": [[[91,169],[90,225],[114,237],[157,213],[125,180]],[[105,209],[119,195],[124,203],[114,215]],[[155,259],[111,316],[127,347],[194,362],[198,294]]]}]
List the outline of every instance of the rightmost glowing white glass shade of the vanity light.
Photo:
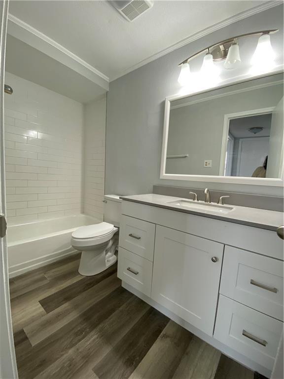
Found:
[{"label": "rightmost glowing white glass shade of the vanity light", "polygon": [[275,53],[271,46],[270,35],[264,34],[259,37],[256,49],[251,58],[251,64],[257,67],[274,66]]}]

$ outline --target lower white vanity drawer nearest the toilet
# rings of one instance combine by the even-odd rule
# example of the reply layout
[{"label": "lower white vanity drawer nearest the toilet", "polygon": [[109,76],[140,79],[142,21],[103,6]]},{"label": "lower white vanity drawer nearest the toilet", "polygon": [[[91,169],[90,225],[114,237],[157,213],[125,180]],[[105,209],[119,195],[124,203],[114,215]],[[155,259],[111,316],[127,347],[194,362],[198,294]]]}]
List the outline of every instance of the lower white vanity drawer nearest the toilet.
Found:
[{"label": "lower white vanity drawer nearest the toilet", "polygon": [[150,297],[153,264],[121,247],[118,250],[117,276]]}]

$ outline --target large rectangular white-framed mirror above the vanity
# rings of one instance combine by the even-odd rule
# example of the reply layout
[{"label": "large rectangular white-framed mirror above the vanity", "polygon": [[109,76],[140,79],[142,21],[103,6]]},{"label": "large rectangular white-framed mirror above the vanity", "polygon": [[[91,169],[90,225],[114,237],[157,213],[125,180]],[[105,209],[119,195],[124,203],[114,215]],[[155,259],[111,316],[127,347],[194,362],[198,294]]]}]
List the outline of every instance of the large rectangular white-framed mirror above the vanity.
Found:
[{"label": "large rectangular white-framed mirror above the vanity", "polygon": [[171,99],[161,177],[282,178],[283,85],[280,73]]}]

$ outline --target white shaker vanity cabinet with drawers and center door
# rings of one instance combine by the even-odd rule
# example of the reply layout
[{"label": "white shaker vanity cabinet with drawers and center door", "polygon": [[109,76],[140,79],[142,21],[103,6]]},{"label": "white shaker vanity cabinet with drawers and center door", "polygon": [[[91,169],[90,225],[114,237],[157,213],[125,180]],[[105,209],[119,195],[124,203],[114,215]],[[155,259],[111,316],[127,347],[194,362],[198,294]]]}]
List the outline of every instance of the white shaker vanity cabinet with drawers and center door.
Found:
[{"label": "white shaker vanity cabinet with drawers and center door", "polygon": [[226,355],[269,377],[283,332],[276,231],[122,201],[122,285]]}]

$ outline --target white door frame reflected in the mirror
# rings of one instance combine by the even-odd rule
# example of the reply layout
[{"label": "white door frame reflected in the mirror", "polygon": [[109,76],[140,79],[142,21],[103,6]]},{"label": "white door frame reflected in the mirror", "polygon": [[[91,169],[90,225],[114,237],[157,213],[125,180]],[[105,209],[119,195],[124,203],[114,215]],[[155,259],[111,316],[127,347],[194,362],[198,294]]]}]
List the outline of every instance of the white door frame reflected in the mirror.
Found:
[{"label": "white door frame reflected in the mirror", "polygon": [[243,117],[248,117],[248,116],[256,116],[259,114],[273,113],[274,109],[275,109],[275,107],[259,108],[259,109],[252,109],[249,111],[230,113],[230,114],[224,115],[224,126],[223,126],[223,136],[222,136],[222,145],[221,145],[219,175],[221,175],[221,176],[224,175],[230,120],[233,118],[243,118]]}]

